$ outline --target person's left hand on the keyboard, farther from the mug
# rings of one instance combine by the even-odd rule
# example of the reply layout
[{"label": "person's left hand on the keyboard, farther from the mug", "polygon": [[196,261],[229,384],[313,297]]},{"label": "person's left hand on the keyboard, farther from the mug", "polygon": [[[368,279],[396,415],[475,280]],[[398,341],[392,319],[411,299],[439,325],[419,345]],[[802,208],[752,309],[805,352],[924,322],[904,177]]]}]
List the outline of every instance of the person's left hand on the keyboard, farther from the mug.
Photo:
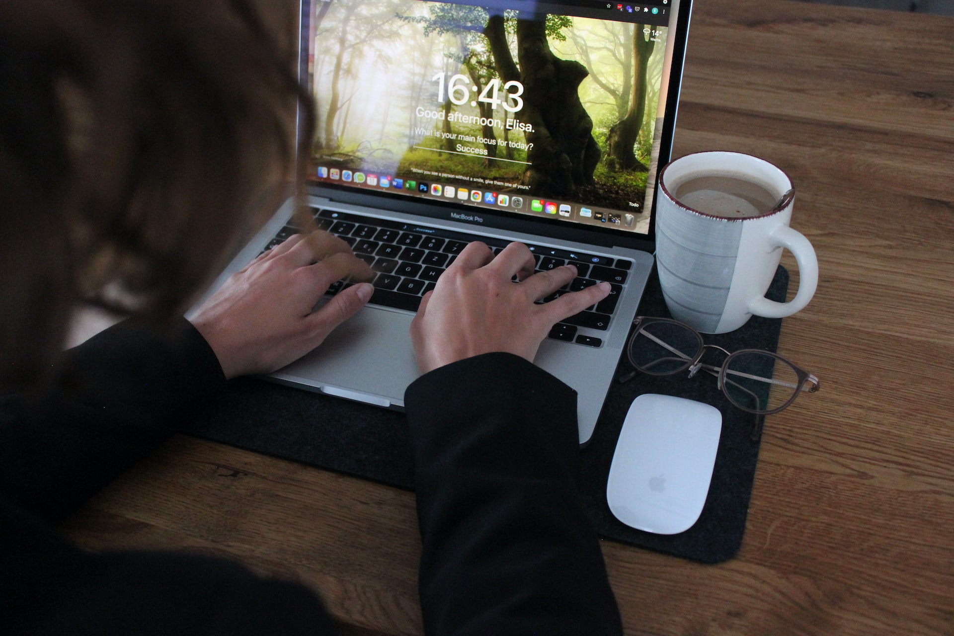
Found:
[{"label": "person's left hand on the keyboard, farther from the mug", "polygon": [[337,236],[295,235],[234,274],[199,308],[192,323],[216,352],[226,378],[269,373],[301,358],[374,293],[364,282],[312,312],[328,286],[367,280],[371,268]]}]

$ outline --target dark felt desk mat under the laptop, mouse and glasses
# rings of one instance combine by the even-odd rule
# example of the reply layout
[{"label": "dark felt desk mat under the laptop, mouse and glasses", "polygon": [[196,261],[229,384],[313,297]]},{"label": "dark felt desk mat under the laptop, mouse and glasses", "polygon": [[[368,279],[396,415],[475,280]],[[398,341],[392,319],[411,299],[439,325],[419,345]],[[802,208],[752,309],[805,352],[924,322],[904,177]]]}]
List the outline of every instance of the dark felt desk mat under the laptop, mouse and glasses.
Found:
[{"label": "dark felt desk mat under the laptop, mouse and glasses", "polygon": [[[766,296],[783,301],[787,289],[788,272],[779,267]],[[670,316],[654,270],[637,315]],[[729,351],[775,351],[780,329],[780,319],[753,317],[735,332],[704,335],[703,339]],[[631,369],[624,353],[616,376]],[[616,439],[630,404],[644,393],[699,400],[722,413],[722,435],[705,507],[693,527],[676,535],[633,529],[617,521],[606,503]],[[742,544],[760,425],[756,416],[730,404],[716,388],[716,379],[708,374],[692,379],[685,373],[661,378],[637,375],[625,384],[613,382],[591,441],[580,451],[580,490],[597,532],[613,541],[704,563],[731,559]],[[407,422],[404,413],[398,411],[245,378],[229,382],[206,416],[186,432],[374,482],[414,488]]]}]

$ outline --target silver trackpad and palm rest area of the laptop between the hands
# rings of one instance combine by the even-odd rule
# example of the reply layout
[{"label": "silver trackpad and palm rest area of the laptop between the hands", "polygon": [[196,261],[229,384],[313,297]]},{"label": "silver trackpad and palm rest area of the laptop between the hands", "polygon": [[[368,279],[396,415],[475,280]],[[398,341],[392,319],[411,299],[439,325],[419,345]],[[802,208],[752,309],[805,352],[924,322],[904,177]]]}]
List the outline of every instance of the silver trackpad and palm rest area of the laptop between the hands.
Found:
[{"label": "silver trackpad and palm rest area of the laptop between the hands", "polygon": [[420,375],[411,346],[412,314],[365,306],[320,347],[272,374],[329,395],[379,406],[404,406],[404,389]]}]

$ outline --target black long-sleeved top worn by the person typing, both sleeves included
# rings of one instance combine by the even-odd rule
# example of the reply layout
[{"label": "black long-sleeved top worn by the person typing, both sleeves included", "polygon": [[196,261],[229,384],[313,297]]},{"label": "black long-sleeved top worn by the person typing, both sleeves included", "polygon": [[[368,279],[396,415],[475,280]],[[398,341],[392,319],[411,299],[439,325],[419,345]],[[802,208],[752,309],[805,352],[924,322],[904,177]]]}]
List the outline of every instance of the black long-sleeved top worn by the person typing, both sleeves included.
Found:
[{"label": "black long-sleeved top worn by the person typing, both sleeves included", "polygon": [[[332,634],[319,599],[240,564],[90,552],[59,533],[99,488],[223,384],[186,321],[121,324],[67,353],[56,391],[0,404],[0,633]],[[576,492],[575,394],[509,354],[426,374],[405,395],[429,635],[620,634]]]}]

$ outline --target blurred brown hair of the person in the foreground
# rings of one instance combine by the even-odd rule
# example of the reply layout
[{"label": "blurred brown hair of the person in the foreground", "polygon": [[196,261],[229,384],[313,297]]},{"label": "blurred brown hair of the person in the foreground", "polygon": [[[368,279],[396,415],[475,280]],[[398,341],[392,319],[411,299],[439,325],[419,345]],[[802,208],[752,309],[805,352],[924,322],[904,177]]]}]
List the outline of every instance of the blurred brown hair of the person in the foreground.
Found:
[{"label": "blurred brown hair of the person in the foreground", "polygon": [[79,299],[180,313],[263,220],[301,104],[246,0],[3,0],[0,392],[46,375]]}]

